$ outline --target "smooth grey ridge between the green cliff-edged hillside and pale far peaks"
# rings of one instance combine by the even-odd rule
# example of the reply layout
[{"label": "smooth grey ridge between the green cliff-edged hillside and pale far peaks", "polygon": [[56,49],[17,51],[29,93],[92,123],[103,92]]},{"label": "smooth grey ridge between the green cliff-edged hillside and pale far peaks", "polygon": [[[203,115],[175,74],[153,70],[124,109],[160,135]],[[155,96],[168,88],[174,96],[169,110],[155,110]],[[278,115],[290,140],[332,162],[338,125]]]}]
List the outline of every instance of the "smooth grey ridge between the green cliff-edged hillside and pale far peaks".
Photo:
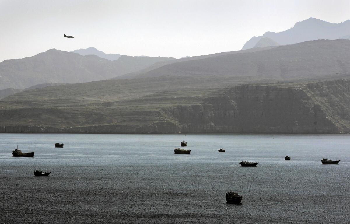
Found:
[{"label": "smooth grey ridge between the green cliff-edged hillside and pale far peaks", "polygon": [[176,62],[140,74],[145,77],[312,78],[350,73],[349,40],[317,40],[267,50]]}]

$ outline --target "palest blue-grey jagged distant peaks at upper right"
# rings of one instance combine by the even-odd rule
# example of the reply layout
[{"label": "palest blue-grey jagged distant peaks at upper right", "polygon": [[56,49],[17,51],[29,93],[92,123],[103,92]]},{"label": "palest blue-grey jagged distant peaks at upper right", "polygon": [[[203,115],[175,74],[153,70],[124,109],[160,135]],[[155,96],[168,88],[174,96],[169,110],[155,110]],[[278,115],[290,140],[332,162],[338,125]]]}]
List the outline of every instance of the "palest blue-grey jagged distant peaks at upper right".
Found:
[{"label": "palest blue-grey jagged distant peaks at upper right", "polygon": [[[309,18],[295,23],[294,27],[285,31],[274,33],[266,32],[262,36],[252,37],[247,41],[242,50],[259,47],[258,42],[263,38],[272,40],[271,44],[265,41],[264,46],[275,46],[276,44],[294,44],[310,40],[336,40],[345,38],[350,35],[350,20],[342,23],[329,23],[324,20]],[[257,45],[258,44],[258,45]]]}]

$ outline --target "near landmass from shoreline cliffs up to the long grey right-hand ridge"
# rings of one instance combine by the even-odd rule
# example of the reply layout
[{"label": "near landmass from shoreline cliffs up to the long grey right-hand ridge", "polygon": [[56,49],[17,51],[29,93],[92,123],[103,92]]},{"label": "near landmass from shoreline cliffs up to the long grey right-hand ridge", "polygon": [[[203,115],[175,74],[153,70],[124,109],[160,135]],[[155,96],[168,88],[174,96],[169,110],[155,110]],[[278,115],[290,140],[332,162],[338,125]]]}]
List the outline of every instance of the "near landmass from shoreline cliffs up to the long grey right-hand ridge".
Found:
[{"label": "near landmass from shoreline cliffs up to the long grey right-hand ridge", "polygon": [[349,50],[308,41],[22,91],[0,101],[0,132],[348,133]]}]

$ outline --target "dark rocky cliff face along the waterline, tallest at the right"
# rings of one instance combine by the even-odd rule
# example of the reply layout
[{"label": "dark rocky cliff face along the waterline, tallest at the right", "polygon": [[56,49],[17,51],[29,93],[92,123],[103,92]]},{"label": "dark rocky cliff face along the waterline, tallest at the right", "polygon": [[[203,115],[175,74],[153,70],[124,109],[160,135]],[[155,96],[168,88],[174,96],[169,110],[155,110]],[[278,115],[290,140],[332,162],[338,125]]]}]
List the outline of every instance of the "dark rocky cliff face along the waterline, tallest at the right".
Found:
[{"label": "dark rocky cliff face along the waterline, tallest at the right", "polygon": [[[238,85],[196,105],[166,107],[144,125],[0,126],[12,133],[308,133],[350,132],[350,80]],[[141,116],[141,115],[139,115]],[[143,113],[145,121],[147,114]]]}]

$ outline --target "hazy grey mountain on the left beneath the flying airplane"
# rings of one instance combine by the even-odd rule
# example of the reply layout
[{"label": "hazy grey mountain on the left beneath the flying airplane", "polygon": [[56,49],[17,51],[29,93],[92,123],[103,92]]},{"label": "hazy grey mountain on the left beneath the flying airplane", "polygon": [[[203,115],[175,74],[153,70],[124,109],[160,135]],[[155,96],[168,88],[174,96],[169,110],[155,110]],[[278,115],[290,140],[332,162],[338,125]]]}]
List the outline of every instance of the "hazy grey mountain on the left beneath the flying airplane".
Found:
[{"label": "hazy grey mountain on the left beneath the flying airplane", "polygon": [[115,61],[96,55],[50,49],[35,56],[0,63],[0,90],[25,89],[43,83],[82,83],[110,79],[144,69],[167,57],[120,56]]}]

